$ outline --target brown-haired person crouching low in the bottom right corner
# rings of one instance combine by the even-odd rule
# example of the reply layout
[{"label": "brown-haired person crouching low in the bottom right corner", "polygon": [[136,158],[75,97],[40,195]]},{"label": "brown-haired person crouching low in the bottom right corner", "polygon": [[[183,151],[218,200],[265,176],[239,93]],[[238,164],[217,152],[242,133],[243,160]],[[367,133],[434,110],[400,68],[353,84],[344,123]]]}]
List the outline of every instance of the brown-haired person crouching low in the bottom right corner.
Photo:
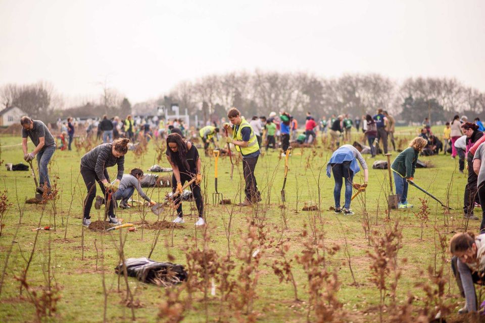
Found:
[{"label": "brown-haired person crouching low in the bottom right corner", "polygon": [[465,306],[458,313],[475,312],[477,299],[475,284],[483,285],[485,274],[485,234],[457,233],[450,239],[451,268]]}]

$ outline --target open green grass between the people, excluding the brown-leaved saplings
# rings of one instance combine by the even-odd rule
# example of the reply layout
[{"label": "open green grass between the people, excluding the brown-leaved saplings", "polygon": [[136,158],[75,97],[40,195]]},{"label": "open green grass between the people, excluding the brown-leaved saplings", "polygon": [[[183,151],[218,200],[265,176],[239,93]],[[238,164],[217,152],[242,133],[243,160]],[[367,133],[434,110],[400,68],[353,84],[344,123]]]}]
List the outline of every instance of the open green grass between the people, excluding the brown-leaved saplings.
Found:
[{"label": "open green grass between the people, excluding the brown-leaved saplings", "polygon": [[[414,128],[398,129],[398,133],[404,134],[405,132],[409,132],[407,134],[408,136],[413,131]],[[0,138],[0,142],[2,143],[2,156],[0,159],[4,159],[4,163],[17,164],[24,162],[21,146],[13,146],[21,142],[20,137],[5,136]],[[128,152],[125,159],[125,170],[133,167],[141,167],[147,170],[153,165],[155,156],[153,143],[152,141],[149,144],[149,151],[143,158],[135,158],[133,152]],[[31,146],[30,142],[29,146]],[[295,148],[293,155],[289,159],[289,172],[286,182],[288,230],[282,230],[281,210],[278,207],[283,182],[284,160],[280,159],[278,152],[269,152],[264,157],[260,157],[256,167],[256,177],[264,195],[266,195],[268,189],[267,179],[271,178],[273,172],[276,172],[274,184],[271,187],[271,207],[267,213],[266,228],[270,230],[270,237],[272,238],[279,239],[282,236],[283,238],[290,239],[291,247],[289,254],[293,258],[295,254],[300,254],[303,249],[304,238],[301,237],[301,233],[304,227],[307,226],[307,230],[309,230],[308,225],[310,220],[312,216],[316,216],[317,214],[317,212],[302,211],[303,202],[311,200],[320,204],[321,216],[324,221],[323,226],[320,227],[319,225],[319,227],[325,233],[326,243],[329,245],[335,243],[343,247],[344,236],[347,237],[353,270],[356,280],[360,284],[357,287],[350,285],[352,278],[349,266],[343,263],[346,257],[342,248],[341,251],[337,252],[331,258],[328,265],[337,268],[338,279],[342,282],[338,299],[344,304],[344,310],[349,314],[345,320],[375,321],[378,318],[376,306],[379,303],[379,292],[369,281],[369,265],[371,260],[366,252],[372,251],[372,247],[368,245],[364,230],[362,229],[362,203],[359,202],[359,199],[353,201],[352,208],[356,214],[352,217],[336,215],[328,210],[333,205],[333,179],[325,176],[325,166],[331,151],[322,149],[318,148],[316,155],[312,157],[311,149]],[[99,270],[96,271],[94,241],[96,241],[96,245],[100,249],[101,239],[103,239],[106,282],[111,291],[108,298],[108,320],[129,320],[130,309],[122,304],[124,293],[117,293],[118,278],[114,273],[114,267],[118,263],[118,255],[114,247],[114,244],[118,243],[119,240],[118,233],[112,236],[114,239],[112,240],[110,235],[101,235],[85,230],[84,259],[81,259],[82,197],[86,194],[82,178],[79,177],[79,162],[81,156],[82,153],[77,153],[76,151],[58,150],[54,154],[51,162],[51,179],[58,177],[58,187],[61,190],[61,198],[58,201],[58,216],[56,219],[57,231],[39,232],[36,252],[34,253],[27,277],[28,283],[33,287],[44,285],[46,249],[50,236],[52,240],[52,268],[55,283],[61,287],[61,299],[58,303],[57,312],[54,316],[47,319],[47,321],[102,321],[104,296],[100,270],[101,260],[98,262]],[[384,159],[383,157],[378,156],[376,159]],[[213,207],[210,203],[212,193],[214,192],[214,159],[206,156],[202,156],[202,159],[203,166],[205,167],[205,180],[207,180],[208,187],[205,193],[209,201],[209,204],[206,205],[207,228],[211,236],[209,247],[215,249],[219,255],[223,256],[227,252],[227,242],[222,219],[227,219],[228,213],[223,207]],[[371,168],[375,159],[371,159],[368,156],[366,156],[366,159],[369,168]],[[428,189],[435,196],[445,200],[446,188],[457,167],[458,160],[451,160],[449,155],[422,157],[422,160],[429,161],[434,167],[416,170],[416,183]],[[307,161],[309,161],[310,168],[306,168]],[[162,160],[160,165],[168,167],[165,159]],[[240,168],[240,165],[235,166],[234,180],[231,182],[229,179],[229,158],[219,159],[218,189],[219,192],[224,194],[224,198],[238,201],[239,198],[236,197],[236,194],[240,186]],[[109,173],[113,176],[116,173],[116,168],[109,169]],[[362,174],[363,172],[360,172],[357,175],[355,182],[362,181]],[[400,219],[400,227],[403,229],[403,248],[399,251],[399,259],[403,276],[399,282],[398,298],[400,301],[405,301],[408,292],[419,297],[423,296],[423,293],[418,287],[415,287],[415,284],[426,280],[425,275],[421,275],[420,271],[425,272],[427,266],[432,265],[434,261],[433,226],[436,224],[441,232],[446,232],[447,237],[451,237],[452,231],[458,232],[463,229],[461,207],[466,179],[464,175],[459,174],[457,171],[453,176],[450,203],[456,210],[451,213],[449,228],[444,226],[442,208],[433,200],[429,201],[431,214],[424,228],[423,240],[421,241],[420,225],[412,212],[416,208],[405,211],[392,210],[391,221],[387,222],[385,220],[386,196],[389,191],[389,182],[387,182],[386,176],[386,170],[369,170],[369,187],[365,193],[365,200],[369,217],[371,218],[372,230],[382,231],[385,227],[392,226],[394,221]],[[19,282],[14,277],[20,276],[26,263],[23,257],[28,258],[32,249],[32,243],[36,233],[32,232],[31,229],[37,227],[41,214],[41,206],[24,204],[27,198],[32,198],[34,195],[34,184],[30,172],[7,172],[5,167],[2,167],[0,169],[0,177],[2,189],[8,191],[9,201],[14,204],[5,215],[5,228],[0,237],[0,264],[2,267],[4,266],[6,254],[12,243],[16,228],[19,227],[19,233],[15,239],[12,254],[10,255],[2,294],[0,295],[0,321],[30,321],[35,317],[34,306],[27,299],[18,297]],[[300,192],[298,197],[298,210],[296,209],[297,188]],[[320,189],[321,194],[320,201],[317,201],[318,189]],[[67,239],[64,240],[66,217],[74,190],[75,194],[70,212]],[[164,196],[167,191],[168,189],[164,188],[160,190],[156,189],[153,192],[149,190],[149,193],[153,194],[154,197],[158,197]],[[344,192],[342,192],[342,203],[343,198]],[[420,204],[419,198],[425,198],[425,195],[417,189],[410,187],[408,199],[415,207]],[[20,202],[20,208],[23,210],[20,226],[18,226],[19,209],[17,199]],[[151,257],[152,259],[167,261],[168,254],[171,254],[175,257],[174,262],[185,264],[186,258],[183,248],[186,243],[184,238],[188,238],[189,243],[191,243],[190,239],[197,238],[199,246],[201,245],[202,230],[195,230],[193,223],[197,221],[197,217],[189,216],[190,213],[195,213],[190,210],[190,206],[188,202],[183,204],[184,213],[186,214],[185,229],[174,230],[173,247],[171,246],[172,237],[170,231],[163,230],[160,242]],[[480,213],[478,210],[476,211],[477,214]],[[94,207],[91,210],[91,214],[93,220],[101,217],[99,211],[95,210]],[[246,232],[246,217],[252,216],[253,212],[250,208],[235,208],[233,223],[234,235],[232,236],[231,244],[240,241],[240,235]],[[118,217],[123,218],[125,222],[135,222],[140,220],[140,212],[137,209],[127,211],[119,210]],[[146,220],[153,222],[156,219],[152,213],[149,213]],[[52,206],[47,204],[41,225],[53,226],[53,223]],[[477,231],[478,227],[479,223],[477,221],[470,222],[469,224],[470,230]],[[125,245],[126,257],[148,256],[155,233],[156,231],[144,230],[143,239],[141,238],[141,230],[139,228],[134,233],[128,233]],[[235,248],[232,247],[232,251],[234,250]],[[265,322],[304,322],[306,321],[306,304],[308,302],[306,275],[301,265],[293,261],[293,271],[298,284],[299,296],[306,302],[294,303],[292,286],[284,282],[279,283],[277,277],[273,275],[271,268],[268,266],[268,264],[272,263],[278,257],[272,249],[264,250],[263,252],[259,267],[258,297],[254,306],[255,311],[259,313],[258,320]],[[407,259],[406,263],[402,261],[404,258]],[[448,269],[447,266],[447,275]],[[458,292],[453,277],[450,278],[450,281],[451,286],[446,286],[446,292],[448,293],[450,291],[451,295],[453,295],[452,303],[456,304],[456,306],[461,305],[462,300],[457,295]],[[129,282],[131,290],[135,293],[135,298],[142,304],[142,307],[135,309],[137,321],[156,321],[159,304],[165,298],[164,290],[154,285],[140,284],[132,278],[129,279]],[[121,281],[121,289],[124,291],[123,281]],[[184,321],[205,321],[202,292],[196,293],[192,305],[193,308],[185,312]],[[210,299],[208,310],[210,316],[209,321],[214,321],[215,315],[219,310],[218,301],[216,299]],[[226,308],[222,310],[226,313],[225,319],[235,320],[235,317],[232,316],[232,313],[227,312]]]}]

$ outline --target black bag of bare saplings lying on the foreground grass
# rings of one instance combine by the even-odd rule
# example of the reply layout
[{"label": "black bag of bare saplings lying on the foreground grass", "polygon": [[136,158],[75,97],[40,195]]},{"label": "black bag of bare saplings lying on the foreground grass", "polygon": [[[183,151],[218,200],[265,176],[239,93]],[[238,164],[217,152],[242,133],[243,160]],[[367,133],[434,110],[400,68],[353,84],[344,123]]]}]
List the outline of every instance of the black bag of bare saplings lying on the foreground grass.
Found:
[{"label": "black bag of bare saplings lying on the foreground grass", "polygon": [[[158,286],[172,286],[187,279],[183,265],[171,262],[157,262],[143,258],[128,258],[125,262],[129,277],[136,277],[140,282],[153,283]],[[123,273],[123,263],[115,267],[118,275]]]}]

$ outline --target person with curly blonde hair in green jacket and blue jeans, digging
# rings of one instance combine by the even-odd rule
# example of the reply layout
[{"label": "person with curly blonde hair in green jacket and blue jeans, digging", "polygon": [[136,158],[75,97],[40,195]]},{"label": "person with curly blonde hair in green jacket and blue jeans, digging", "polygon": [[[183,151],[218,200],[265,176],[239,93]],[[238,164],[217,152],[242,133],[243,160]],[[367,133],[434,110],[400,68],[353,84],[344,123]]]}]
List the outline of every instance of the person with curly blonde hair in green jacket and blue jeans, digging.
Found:
[{"label": "person with curly blonde hair in green jacket and blue jeans, digging", "polygon": [[396,194],[400,201],[398,208],[410,208],[412,204],[408,203],[408,182],[413,180],[416,163],[419,152],[427,145],[427,141],[421,137],[414,138],[409,147],[401,151],[394,159],[391,169],[394,175],[394,184],[396,185]]}]

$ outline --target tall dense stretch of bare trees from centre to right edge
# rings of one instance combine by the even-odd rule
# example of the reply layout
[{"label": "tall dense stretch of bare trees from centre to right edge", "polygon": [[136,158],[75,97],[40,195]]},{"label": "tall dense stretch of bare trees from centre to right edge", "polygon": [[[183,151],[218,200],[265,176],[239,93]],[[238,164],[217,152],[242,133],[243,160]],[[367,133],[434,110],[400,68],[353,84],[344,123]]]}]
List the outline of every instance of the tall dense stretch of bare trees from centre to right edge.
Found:
[{"label": "tall dense stretch of bare trees from centre to right edge", "polygon": [[[322,78],[308,73],[256,71],[210,75],[177,84],[161,101],[177,102],[191,115],[204,117],[235,106],[248,116],[284,109],[297,118],[349,113],[360,116],[384,109],[401,114],[406,98],[435,100],[448,115],[485,110],[485,93],[450,78],[408,78],[403,82],[379,74],[346,74]],[[206,111],[207,109],[207,111]],[[438,120],[435,120],[438,121]]]}]

